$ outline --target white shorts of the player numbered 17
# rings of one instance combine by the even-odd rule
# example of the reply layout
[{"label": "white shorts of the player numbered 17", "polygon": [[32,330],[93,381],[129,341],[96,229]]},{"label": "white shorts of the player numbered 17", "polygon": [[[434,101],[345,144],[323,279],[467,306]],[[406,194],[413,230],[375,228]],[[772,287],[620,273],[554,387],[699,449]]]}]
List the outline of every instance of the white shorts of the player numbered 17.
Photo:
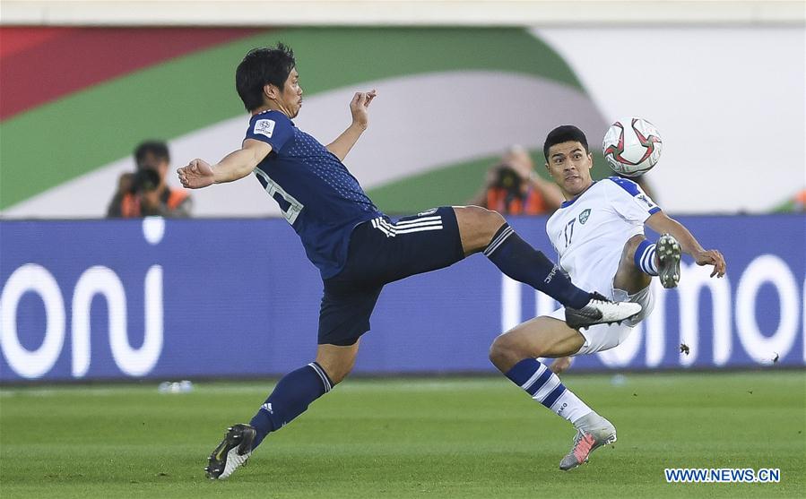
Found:
[{"label": "white shorts of the player numbered 17", "polygon": [[[627,291],[623,289],[613,289],[613,300],[618,302],[629,301],[641,305],[643,308],[641,312],[634,318],[624,321],[620,324],[596,324],[584,330],[580,330],[582,336],[585,337],[585,343],[576,354],[577,355],[593,354],[604,350],[609,350],[618,347],[622,341],[627,340],[629,333],[632,332],[637,323],[640,323],[644,318],[652,312],[654,307],[654,297],[652,295],[652,286],[647,286],[641,289],[635,295],[628,295]],[[558,308],[548,315],[560,321],[566,320],[566,309]]]}]

